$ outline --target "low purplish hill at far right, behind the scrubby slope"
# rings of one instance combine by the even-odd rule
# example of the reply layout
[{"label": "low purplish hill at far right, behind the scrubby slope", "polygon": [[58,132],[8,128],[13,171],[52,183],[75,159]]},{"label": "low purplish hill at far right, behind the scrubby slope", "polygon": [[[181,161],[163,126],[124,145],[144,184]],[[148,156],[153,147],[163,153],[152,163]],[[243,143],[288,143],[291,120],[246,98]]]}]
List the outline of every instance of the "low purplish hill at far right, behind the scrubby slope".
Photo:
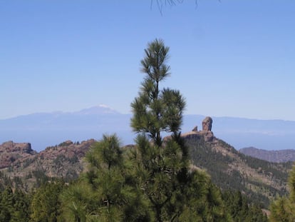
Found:
[{"label": "low purplish hill at far right, behind the scrubby slope", "polygon": [[283,163],[288,161],[295,161],[295,150],[285,149],[280,151],[266,151],[264,149],[246,147],[239,150],[247,156],[262,159],[264,161]]}]

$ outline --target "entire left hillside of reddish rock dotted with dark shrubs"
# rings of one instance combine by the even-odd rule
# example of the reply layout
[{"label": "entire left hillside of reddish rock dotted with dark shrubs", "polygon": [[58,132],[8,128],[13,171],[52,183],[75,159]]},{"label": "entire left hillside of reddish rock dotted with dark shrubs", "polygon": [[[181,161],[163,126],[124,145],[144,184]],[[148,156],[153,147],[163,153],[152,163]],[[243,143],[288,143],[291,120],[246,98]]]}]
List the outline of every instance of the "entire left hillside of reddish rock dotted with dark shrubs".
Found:
[{"label": "entire left hillside of reddish rock dotted with dark shrubs", "polygon": [[[79,173],[83,171],[83,157],[93,143],[93,139],[81,143],[65,141],[49,146],[40,153],[31,150],[26,153],[24,148],[19,148],[30,147],[29,143],[3,143],[0,145],[0,154],[6,161],[1,161],[0,181],[26,190],[33,185],[39,186],[52,177],[71,181],[78,178]],[[11,181],[6,176],[9,176]]]}]

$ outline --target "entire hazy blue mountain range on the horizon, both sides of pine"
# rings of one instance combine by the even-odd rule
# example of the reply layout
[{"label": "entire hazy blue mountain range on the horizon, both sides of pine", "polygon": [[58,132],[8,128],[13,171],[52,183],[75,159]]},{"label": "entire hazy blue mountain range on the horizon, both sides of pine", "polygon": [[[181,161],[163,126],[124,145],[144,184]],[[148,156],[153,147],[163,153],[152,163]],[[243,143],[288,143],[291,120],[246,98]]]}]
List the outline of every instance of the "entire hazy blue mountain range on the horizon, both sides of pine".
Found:
[{"label": "entire hazy blue mountain range on the horizon, both sides of pine", "polygon": [[[132,114],[122,114],[99,105],[76,112],[33,113],[0,120],[0,143],[28,142],[36,151],[61,141],[100,139],[103,133],[117,133],[123,144],[133,143]],[[182,132],[201,126],[202,115],[185,115]],[[215,136],[234,148],[259,147],[266,150],[295,149],[295,121],[212,117]]]}]

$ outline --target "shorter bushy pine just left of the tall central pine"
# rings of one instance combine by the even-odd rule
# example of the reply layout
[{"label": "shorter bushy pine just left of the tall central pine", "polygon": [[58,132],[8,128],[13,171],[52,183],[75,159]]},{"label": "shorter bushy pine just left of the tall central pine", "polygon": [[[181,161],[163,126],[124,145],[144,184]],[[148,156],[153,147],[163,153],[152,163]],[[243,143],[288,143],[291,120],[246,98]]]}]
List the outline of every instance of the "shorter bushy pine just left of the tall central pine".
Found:
[{"label": "shorter bushy pine just left of the tall central pine", "polygon": [[115,135],[103,139],[86,155],[88,172],[62,195],[66,221],[146,221],[148,211]]}]

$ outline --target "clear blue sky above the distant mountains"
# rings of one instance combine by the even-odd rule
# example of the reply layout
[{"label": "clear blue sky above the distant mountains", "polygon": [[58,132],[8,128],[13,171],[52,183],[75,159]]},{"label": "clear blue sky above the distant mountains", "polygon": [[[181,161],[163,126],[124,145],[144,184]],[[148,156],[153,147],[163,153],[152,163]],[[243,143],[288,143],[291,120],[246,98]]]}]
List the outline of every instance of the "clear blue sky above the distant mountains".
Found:
[{"label": "clear blue sky above the distant mountains", "polygon": [[0,119],[106,104],[130,113],[149,41],[186,113],[295,121],[295,1],[0,0]]}]

